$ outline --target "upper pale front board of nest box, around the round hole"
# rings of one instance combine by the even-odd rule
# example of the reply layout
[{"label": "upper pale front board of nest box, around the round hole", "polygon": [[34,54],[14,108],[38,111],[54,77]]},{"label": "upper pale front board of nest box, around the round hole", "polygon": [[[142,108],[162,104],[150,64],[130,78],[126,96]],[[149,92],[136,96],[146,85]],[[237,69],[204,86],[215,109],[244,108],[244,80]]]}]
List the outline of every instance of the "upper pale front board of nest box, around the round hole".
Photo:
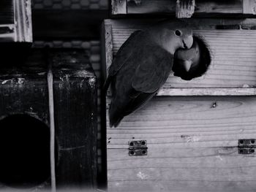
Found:
[{"label": "upper pale front board of nest box, around the round hole", "polygon": [[[107,53],[113,56],[133,31],[146,28],[159,20],[107,20],[111,23],[112,43],[106,45]],[[171,20],[170,20],[171,21]],[[253,88],[256,85],[256,34],[255,19],[247,20],[197,20],[191,19],[194,34],[202,37],[211,52],[211,66],[203,77],[185,81],[170,74],[163,86],[167,93],[168,88]],[[239,30],[233,29],[240,28]],[[227,29],[219,29],[227,28]],[[232,28],[232,29],[228,29]],[[111,31],[110,31],[111,32]],[[111,46],[110,46],[111,45]],[[110,49],[108,49],[110,46]],[[106,63],[107,69],[110,61]],[[247,90],[248,91],[248,90]],[[232,91],[231,91],[232,92]],[[246,91],[243,91],[246,94]],[[234,92],[233,92],[234,93]],[[238,92],[234,93],[237,94]],[[240,93],[238,93],[240,94]]]}]

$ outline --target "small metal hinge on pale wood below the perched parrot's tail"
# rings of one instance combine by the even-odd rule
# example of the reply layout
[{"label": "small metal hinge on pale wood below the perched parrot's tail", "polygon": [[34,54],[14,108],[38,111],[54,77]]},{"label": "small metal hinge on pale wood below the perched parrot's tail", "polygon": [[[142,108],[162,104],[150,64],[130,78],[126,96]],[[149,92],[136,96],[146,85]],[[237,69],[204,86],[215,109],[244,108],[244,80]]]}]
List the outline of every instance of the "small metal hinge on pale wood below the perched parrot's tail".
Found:
[{"label": "small metal hinge on pale wood below the perched parrot's tail", "polygon": [[130,156],[148,155],[147,141],[146,140],[130,141],[129,155]]}]

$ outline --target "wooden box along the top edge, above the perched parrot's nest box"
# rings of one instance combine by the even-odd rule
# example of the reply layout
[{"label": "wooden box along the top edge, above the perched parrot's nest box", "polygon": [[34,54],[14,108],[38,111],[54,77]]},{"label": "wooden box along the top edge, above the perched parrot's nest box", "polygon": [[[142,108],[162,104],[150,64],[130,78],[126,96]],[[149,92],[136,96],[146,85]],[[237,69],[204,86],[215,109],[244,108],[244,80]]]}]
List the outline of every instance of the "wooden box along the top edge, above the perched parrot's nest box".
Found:
[{"label": "wooden box along the top edge, above the perched parrot's nest box", "polygon": [[[169,0],[112,0],[111,14],[117,15],[175,15],[176,1]],[[255,15],[256,4],[253,0],[204,1],[195,0],[195,15]]]}]

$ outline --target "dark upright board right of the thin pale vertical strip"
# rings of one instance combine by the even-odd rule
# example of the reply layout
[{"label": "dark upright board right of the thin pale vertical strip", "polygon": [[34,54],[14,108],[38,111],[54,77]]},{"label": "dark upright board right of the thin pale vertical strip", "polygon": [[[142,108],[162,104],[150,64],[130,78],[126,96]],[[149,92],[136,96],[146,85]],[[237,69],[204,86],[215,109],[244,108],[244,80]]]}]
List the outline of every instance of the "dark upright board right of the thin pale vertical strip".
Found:
[{"label": "dark upright board right of the thin pale vertical strip", "polygon": [[83,50],[51,50],[58,188],[96,188],[97,80]]}]

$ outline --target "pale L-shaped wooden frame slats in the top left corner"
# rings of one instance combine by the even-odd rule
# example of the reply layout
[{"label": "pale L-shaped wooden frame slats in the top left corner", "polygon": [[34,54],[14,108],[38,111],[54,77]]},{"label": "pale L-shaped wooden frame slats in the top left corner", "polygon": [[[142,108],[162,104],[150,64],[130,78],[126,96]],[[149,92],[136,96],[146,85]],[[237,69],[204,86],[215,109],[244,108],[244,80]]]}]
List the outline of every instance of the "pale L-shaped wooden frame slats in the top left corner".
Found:
[{"label": "pale L-shaped wooden frame slats in the top left corner", "polygon": [[31,0],[12,0],[13,22],[0,25],[0,42],[32,42]]}]

